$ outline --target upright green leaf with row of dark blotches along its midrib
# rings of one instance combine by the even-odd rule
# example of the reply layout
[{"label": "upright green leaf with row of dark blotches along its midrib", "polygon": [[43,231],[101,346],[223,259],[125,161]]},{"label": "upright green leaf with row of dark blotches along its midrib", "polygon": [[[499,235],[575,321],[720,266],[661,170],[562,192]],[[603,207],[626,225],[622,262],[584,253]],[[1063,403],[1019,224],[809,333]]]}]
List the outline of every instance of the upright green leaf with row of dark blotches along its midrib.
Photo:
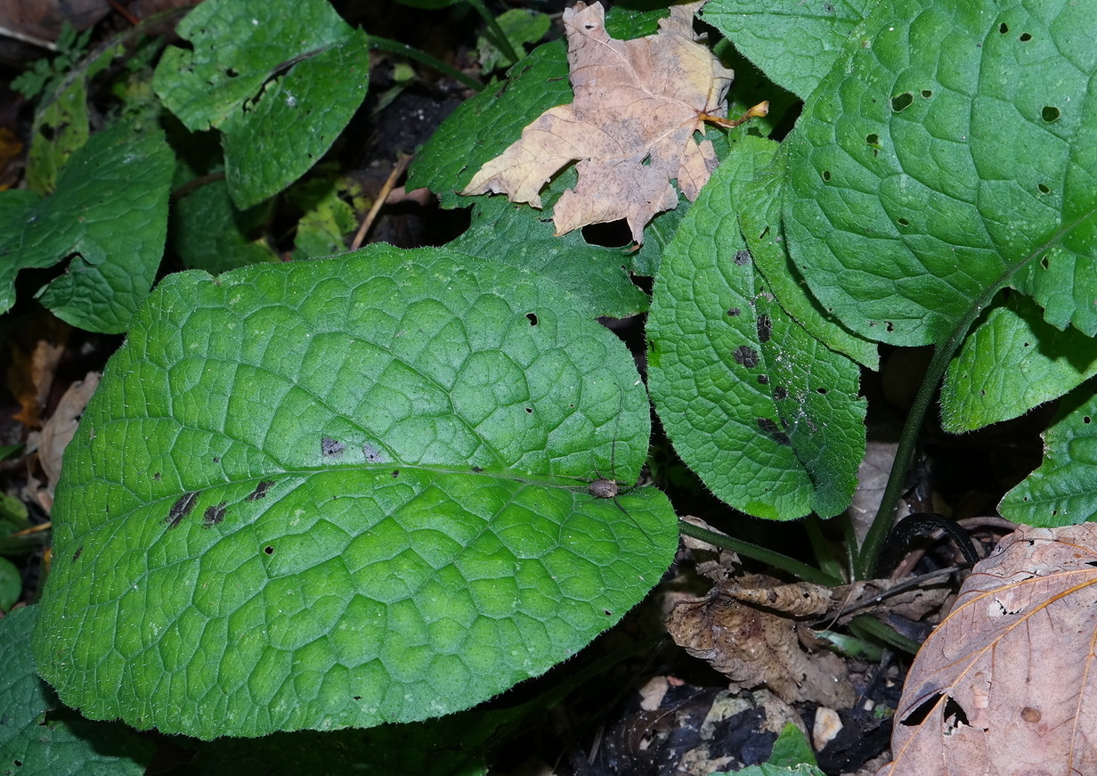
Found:
[{"label": "upright green leaf with row of dark blotches along its midrib", "polygon": [[652,398],[721,499],[757,517],[830,517],[849,506],[864,456],[859,370],[792,319],[755,267],[733,195],[739,169],[717,168],[656,277]]}]

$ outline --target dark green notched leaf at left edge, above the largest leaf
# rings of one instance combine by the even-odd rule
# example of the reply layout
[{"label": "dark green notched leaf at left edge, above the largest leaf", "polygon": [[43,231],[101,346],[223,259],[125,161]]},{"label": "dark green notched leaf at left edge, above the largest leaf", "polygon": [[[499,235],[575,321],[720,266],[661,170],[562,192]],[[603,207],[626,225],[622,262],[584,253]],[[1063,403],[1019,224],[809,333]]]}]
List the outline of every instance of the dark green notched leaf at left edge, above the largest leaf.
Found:
[{"label": "dark green notched leaf at left edge, above the largest leaf", "polygon": [[125,331],[163,255],[173,169],[162,133],[115,124],[72,154],[46,199],[0,192],[0,312],[20,270],[69,259],[42,303],[73,326]]}]

